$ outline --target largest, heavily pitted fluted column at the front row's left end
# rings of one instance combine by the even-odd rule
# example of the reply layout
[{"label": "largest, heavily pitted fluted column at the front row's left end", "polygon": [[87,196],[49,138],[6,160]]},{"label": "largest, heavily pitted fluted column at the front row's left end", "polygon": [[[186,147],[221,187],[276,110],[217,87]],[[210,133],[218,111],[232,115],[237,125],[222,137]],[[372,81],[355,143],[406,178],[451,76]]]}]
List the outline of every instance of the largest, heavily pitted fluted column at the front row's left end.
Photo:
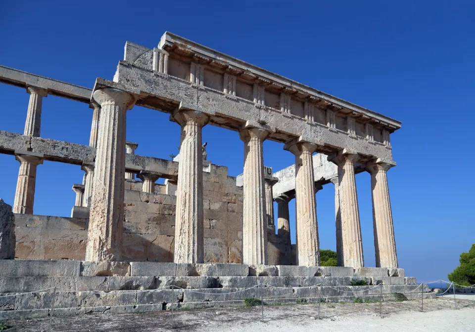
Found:
[{"label": "largest, heavily pitted fluted column at the front row's left end", "polygon": [[120,261],[124,219],[126,111],[134,97],[103,88],[93,93],[100,105],[93,195],[86,246],[87,261]]}]

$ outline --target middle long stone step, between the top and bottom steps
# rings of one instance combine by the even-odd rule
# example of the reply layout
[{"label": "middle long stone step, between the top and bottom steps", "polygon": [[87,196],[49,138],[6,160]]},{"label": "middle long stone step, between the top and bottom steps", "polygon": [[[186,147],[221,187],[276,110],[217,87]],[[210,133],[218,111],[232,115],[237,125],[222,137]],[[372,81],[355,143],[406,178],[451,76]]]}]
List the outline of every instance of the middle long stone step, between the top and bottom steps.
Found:
[{"label": "middle long stone step, between the top and bottom steps", "polygon": [[368,285],[414,285],[410,277],[4,277],[0,293],[28,292],[56,287],[61,290],[153,290],[176,286],[197,288],[248,288],[258,284],[272,287],[350,286],[365,280]]}]

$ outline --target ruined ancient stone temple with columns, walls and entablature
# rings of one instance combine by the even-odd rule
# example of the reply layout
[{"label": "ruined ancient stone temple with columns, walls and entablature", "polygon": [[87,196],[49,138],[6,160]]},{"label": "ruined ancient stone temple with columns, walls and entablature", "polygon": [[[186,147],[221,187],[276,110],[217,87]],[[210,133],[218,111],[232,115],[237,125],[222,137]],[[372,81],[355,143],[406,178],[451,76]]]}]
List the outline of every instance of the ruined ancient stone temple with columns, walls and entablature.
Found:
[{"label": "ruined ancient stone temple with columns, walls and entablature", "polygon": [[[113,79],[98,78],[92,89],[3,66],[0,82],[30,95],[24,132],[0,131],[0,153],[19,162],[17,259],[0,261],[0,271],[9,271],[0,278],[150,277],[151,289],[158,288],[157,278],[203,276],[221,282],[359,276],[385,285],[415,283],[398,268],[389,201],[387,170],[396,165],[390,134],[401,125],[396,120],[168,32],[152,49],[127,42]],[[88,146],[41,137],[42,98],[48,95],[91,108]],[[173,160],[141,156],[140,142],[126,140],[127,112],[136,105],[169,113],[181,126]],[[207,160],[212,156],[201,139],[206,125],[238,132],[244,165],[237,178]],[[295,164],[273,172],[264,165],[264,140],[282,143]],[[34,214],[36,170],[45,160],[84,172],[83,183],[72,184],[70,218]],[[371,173],[377,268],[364,267],[355,183],[355,174],[364,171]],[[330,183],[339,267],[323,268],[315,194]],[[0,289],[9,291],[28,290]]]}]

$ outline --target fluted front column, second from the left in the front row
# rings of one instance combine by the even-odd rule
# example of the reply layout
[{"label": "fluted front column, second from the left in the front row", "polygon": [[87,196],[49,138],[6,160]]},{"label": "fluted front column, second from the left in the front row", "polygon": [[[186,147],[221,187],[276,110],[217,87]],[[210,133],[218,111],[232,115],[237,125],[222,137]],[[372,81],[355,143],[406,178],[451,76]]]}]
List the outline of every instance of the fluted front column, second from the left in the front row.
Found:
[{"label": "fluted front column, second from the left in the front row", "polygon": [[209,117],[192,110],[177,111],[182,126],[175,217],[175,263],[203,263],[203,156],[201,129]]}]

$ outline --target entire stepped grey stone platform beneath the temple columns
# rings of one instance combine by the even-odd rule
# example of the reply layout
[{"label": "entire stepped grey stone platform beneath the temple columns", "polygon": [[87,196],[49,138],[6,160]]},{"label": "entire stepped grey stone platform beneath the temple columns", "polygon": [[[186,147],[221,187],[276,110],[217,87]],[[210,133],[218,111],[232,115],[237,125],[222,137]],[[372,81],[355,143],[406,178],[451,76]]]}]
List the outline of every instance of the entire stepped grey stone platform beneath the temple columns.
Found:
[{"label": "entire stepped grey stone platform beneath the temple columns", "polygon": [[296,301],[434,297],[403,269],[1,260],[0,319]]}]

